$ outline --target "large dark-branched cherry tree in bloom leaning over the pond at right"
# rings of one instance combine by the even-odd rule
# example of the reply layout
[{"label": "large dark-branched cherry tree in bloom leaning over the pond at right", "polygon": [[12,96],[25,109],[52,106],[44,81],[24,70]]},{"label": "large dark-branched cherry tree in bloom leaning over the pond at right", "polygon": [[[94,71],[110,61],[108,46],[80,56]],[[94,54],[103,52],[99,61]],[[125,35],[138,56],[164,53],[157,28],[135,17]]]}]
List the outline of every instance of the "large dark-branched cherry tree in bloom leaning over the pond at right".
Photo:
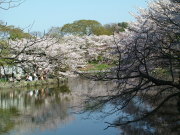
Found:
[{"label": "large dark-branched cherry tree in bloom leaning over the pond at right", "polygon": [[[112,74],[94,76],[96,80],[114,80],[118,87],[108,95],[90,97],[97,101],[90,107],[111,103],[114,108],[107,113],[111,115],[136,102],[133,117],[127,113],[110,126],[145,120],[173,100],[180,111],[180,2],[156,0],[140,9],[135,18],[128,31],[115,36],[117,67]],[[143,108],[146,103],[153,103],[152,107]]]}]

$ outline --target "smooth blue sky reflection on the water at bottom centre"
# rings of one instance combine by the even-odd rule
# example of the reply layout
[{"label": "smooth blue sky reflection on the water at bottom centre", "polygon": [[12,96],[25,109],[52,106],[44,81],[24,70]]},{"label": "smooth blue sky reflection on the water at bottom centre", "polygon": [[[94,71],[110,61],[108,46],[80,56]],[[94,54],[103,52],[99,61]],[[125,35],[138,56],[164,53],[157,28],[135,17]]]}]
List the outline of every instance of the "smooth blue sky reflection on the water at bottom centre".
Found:
[{"label": "smooth blue sky reflection on the water at bottom centre", "polygon": [[[119,130],[114,128],[105,128],[103,121],[95,121],[91,119],[83,120],[81,115],[76,116],[76,120],[65,124],[55,130],[46,130],[41,132],[36,130],[29,135],[119,135]],[[28,134],[27,134],[28,135]]]}]

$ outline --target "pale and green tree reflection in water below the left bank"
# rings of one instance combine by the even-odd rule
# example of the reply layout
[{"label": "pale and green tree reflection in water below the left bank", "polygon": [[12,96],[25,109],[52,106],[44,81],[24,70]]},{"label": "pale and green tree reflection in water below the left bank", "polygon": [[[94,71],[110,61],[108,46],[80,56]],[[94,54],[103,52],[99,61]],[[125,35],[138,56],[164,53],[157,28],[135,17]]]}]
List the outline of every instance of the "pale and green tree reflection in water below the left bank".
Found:
[{"label": "pale and green tree reflection in water below the left bank", "polygon": [[[69,94],[68,94],[69,93]],[[55,128],[73,119],[69,115],[70,100],[68,86],[59,88],[43,88],[35,90],[13,90],[0,92],[0,132],[8,132],[13,128],[24,130]],[[69,96],[70,97],[70,96]],[[11,121],[17,112],[16,121]]]}]

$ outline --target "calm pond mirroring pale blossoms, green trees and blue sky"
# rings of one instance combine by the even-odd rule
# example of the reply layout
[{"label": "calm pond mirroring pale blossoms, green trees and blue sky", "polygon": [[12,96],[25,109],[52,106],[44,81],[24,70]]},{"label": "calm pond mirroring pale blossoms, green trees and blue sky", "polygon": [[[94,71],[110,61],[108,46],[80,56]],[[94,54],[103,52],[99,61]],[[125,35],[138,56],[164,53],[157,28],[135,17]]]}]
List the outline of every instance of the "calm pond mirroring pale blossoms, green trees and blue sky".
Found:
[{"label": "calm pond mirroring pale blossoms, green trees and blue sky", "polygon": [[81,112],[86,94],[100,95],[115,86],[112,82],[69,78],[59,86],[1,90],[0,135],[165,134],[166,130],[161,127],[159,131],[150,122],[104,130],[108,126],[105,122],[113,122],[118,117],[117,114],[102,117],[102,111],[111,105]]}]

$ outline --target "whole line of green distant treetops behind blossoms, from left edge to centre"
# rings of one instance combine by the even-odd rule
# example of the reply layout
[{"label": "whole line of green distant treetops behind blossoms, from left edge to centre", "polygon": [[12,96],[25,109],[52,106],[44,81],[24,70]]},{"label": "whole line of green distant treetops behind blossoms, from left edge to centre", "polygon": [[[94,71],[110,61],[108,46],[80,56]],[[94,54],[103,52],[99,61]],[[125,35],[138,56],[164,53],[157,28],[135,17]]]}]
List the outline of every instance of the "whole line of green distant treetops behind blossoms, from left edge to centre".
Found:
[{"label": "whole line of green distant treetops behind blossoms, from left edge to centre", "polygon": [[[114,32],[119,33],[125,31],[128,28],[127,22],[111,23],[102,25],[96,20],[78,20],[73,23],[68,23],[62,27],[52,27],[46,33],[51,37],[60,37],[65,35],[76,36],[89,36],[89,35],[113,35]],[[32,38],[33,36],[43,36],[45,33],[31,32],[26,33],[21,28],[17,28],[13,25],[7,25],[4,22],[0,22],[0,36],[1,39],[22,39]],[[2,40],[1,40],[2,41]]]}]

